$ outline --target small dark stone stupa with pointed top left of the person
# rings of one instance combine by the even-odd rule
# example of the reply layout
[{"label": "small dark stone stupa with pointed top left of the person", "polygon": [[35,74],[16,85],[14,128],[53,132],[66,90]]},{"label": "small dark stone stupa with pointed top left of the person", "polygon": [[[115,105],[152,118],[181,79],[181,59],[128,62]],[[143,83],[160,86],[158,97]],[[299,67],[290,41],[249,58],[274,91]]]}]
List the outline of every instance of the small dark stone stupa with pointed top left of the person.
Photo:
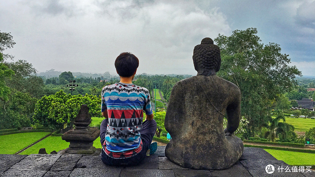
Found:
[{"label": "small dark stone stupa with pointed top left of the person", "polygon": [[90,129],[91,115],[88,105],[81,105],[81,109],[74,119],[75,128],[64,133],[61,138],[70,142],[65,149],[69,154],[94,154],[96,148],[93,141],[100,136],[100,130]]}]

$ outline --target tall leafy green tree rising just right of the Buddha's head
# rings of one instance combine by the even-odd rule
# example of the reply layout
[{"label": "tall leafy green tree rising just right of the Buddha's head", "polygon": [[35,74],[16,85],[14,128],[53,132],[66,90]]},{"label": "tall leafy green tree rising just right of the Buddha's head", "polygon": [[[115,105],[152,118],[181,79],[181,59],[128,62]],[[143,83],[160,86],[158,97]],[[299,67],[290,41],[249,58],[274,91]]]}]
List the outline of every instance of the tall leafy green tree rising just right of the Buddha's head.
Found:
[{"label": "tall leafy green tree rising just right of the Buddha's head", "polygon": [[257,32],[248,28],[215,38],[222,58],[217,75],[240,88],[241,114],[249,120],[251,136],[268,122],[272,100],[292,89],[295,75],[301,76],[296,66],[289,66],[289,55],[282,54],[276,43],[262,44]]}]

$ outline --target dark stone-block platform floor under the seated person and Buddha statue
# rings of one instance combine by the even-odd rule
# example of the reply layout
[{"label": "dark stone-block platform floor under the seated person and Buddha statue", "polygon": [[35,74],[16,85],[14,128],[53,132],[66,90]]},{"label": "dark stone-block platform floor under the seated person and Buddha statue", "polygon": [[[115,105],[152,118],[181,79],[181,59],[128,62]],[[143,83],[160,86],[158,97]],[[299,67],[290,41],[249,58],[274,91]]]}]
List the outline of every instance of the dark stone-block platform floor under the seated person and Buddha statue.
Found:
[{"label": "dark stone-block platform floor under the seated person and Buddha statue", "polygon": [[[100,156],[81,154],[0,154],[0,177],[314,177],[314,172],[278,172],[289,166],[261,148],[245,147],[243,156],[225,170],[192,170],[182,168],[165,157],[165,146],[134,167],[110,167]],[[298,157],[297,157],[298,158]],[[275,172],[267,174],[272,164]],[[290,168],[291,169],[291,168]]]}]

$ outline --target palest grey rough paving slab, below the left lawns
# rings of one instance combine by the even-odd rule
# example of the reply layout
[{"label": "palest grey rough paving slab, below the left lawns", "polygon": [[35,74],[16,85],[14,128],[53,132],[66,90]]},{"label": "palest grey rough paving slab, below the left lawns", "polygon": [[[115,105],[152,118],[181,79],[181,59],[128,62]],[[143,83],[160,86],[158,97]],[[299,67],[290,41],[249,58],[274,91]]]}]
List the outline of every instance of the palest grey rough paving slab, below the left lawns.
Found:
[{"label": "palest grey rough paving slab, below the left lawns", "polygon": [[59,154],[31,154],[13,165],[10,170],[49,171],[59,158]]}]

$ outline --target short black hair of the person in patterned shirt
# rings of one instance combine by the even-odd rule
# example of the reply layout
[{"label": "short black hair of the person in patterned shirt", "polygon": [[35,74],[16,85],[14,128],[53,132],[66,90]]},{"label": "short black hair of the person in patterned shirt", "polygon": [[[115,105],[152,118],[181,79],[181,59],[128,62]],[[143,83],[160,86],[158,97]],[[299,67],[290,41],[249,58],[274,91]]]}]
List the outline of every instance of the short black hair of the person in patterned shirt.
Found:
[{"label": "short black hair of the person in patterned shirt", "polygon": [[119,76],[130,77],[134,75],[139,66],[139,59],[132,53],[123,52],[115,60],[115,68]]}]

